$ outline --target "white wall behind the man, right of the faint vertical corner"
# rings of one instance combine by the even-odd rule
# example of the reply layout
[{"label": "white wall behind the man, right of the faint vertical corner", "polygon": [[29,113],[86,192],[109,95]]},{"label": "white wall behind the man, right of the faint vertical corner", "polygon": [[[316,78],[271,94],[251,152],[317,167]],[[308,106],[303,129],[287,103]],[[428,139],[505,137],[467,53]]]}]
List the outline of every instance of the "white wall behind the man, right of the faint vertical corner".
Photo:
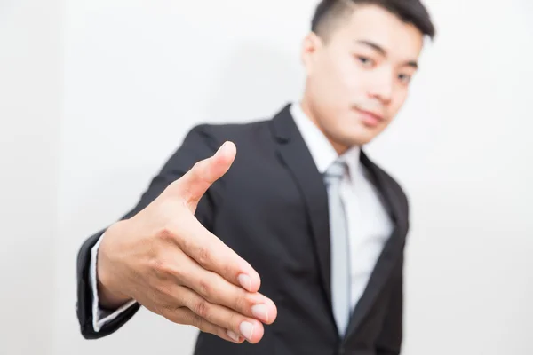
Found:
[{"label": "white wall behind the man, right of the faint vertical corner", "polygon": [[[194,329],[144,311],[107,339],[81,340],[73,256],[133,206],[192,125],[268,117],[299,98],[314,4],[68,1],[58,353],[190,353]],[[530,354],[532,8],[426,4],[439,36],[369,147],[412,204],[404,353]]]}]

